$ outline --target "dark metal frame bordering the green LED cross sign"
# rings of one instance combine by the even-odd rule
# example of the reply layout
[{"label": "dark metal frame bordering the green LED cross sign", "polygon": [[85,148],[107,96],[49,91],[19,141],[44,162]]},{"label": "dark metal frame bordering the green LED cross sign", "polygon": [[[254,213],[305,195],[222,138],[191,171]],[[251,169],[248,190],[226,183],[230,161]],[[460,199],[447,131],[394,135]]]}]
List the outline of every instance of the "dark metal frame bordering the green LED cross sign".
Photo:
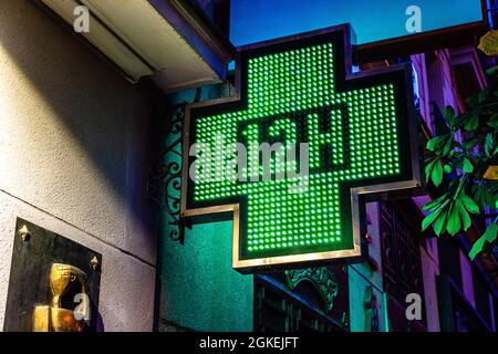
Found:
[{"label": "dark metal frame bordering the green LED cross sign", "polygon": [[[302,268],[310,263],[340,260],[342,262],[357,262],[366,256],[364,235],[366,230],[364,201],[374,200],[380,195],[390,197],[406,197],[419,194],[421,164],[418,160],[418,139],[413,107],[412,70],[409,65],[394,65],[367,72],[352,73],[352,45],[350,27],[339,25],[325,30],[307,32],[299,35],[286,37],[253,44],[240,53],[236,74],[237,92],[232,97],[225,97],[204,103],[188,105],[185,112],[183,139],[183,170],[180,216],[186,222],[206,222],[217,220],[232,220],[232,267],[242,272],[253,272],[273,268]],[[343,250],[308,252],[299,254],[276,256],[248,259],[241,254],[241,242],[246,228],[247,196],[220,201],[195,202],[191,197],[194,183],[188,178],[188,169],[194,158],[189,157],[190,139],[194,136],[193,121],[196,117],[212,115],[219,112],[246,110],[247,100],[247,63],[250,58],[268,55],[282,51],[300,49],[313,43],[333,43],[334,58],[339,58],[334,67],[336,91],[347,91],[351,85],[370,87],[380,83],[395,84],[395,102],[398,132],[398,150],[401,152],[401,177],[383,177],[362,183],[341,183],[341,194],[349,194],[351,198],[351,236],[352,247]],[[193,139],[194,140],[194,139]],[[365,185],[366,184],[366,185]]]}]

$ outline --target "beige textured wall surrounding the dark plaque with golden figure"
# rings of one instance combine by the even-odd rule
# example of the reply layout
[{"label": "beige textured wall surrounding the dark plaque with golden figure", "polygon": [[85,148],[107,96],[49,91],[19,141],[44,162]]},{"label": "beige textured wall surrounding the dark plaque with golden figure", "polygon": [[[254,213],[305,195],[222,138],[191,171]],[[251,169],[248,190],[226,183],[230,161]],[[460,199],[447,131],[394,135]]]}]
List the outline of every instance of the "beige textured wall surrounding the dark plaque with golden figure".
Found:
[{"label": "beige textured wall surrounding the dark plaque with golden figure", "polygon": [[15,217],[103,254],[106,331],[152,330],[147,106],[28,0],[0,2],[0,329]]}]

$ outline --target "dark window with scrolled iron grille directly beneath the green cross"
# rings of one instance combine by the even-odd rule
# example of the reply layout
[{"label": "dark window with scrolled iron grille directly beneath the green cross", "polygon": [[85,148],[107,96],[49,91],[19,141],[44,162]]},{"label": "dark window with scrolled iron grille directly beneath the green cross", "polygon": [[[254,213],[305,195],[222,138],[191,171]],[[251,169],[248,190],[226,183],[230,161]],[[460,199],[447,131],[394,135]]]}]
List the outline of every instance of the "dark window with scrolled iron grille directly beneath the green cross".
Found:
[{"label": "dark window with scrolled iron grille directly beneath the green cross", "polygon": [[350,330],[347,267],[276,271],[255,277],[257,332]]}]

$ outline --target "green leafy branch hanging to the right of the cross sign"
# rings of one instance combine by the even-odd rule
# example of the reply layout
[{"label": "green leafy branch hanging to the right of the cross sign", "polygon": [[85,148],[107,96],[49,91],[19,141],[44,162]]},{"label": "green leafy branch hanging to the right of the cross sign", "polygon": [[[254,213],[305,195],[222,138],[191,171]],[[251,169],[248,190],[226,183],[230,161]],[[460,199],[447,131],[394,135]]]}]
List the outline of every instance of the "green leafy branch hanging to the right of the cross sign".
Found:
[{"label": "green leafy branch hanging to the right of the cross sign", "polygon": [[[466,101],[467,112],[444,111],[448,133],[430,139],[426,181],[440,196],[428,202],[423,230],[433,226],[437,236],[467,231],[471,215],[497,207],[498,194],[498,66],[488,71],[489,85]],[[457,139],[457,137],[461,137]],[[469,256],[498,244],[498,218],[475,242]]]}]

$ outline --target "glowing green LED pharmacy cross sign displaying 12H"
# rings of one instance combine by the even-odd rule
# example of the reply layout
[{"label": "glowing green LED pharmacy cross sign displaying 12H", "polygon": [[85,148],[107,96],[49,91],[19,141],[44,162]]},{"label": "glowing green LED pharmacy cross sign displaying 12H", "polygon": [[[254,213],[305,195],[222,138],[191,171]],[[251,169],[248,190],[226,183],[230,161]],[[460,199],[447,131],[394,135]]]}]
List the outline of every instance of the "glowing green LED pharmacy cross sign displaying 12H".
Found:
[{"label": "glowing green LED pharmacy cross sign displaying 12H", "polygon": [[[187,110],[184,146],[201,143],[215,153],[209,176],[197,166],[199,177],[188,178],[183,216],[228,212],[237,270],[357,260],[364,256],[361,197],[418,186],[409,71],[353,75],[347,62],[347,27],[280,40],[241,53],[241,100]],[[234,143],[249,150],[253,143],[308,143],[309,176],[251,181],[264,166],[249,156],[247,180],[231,178],[224,171],[237,156],[217,152]],[[184,183],[198,157],[184,155]],[[300,167],[278,162],[272,155],[272,176]],[[307,188],[292,191],[298,186]]]}]

